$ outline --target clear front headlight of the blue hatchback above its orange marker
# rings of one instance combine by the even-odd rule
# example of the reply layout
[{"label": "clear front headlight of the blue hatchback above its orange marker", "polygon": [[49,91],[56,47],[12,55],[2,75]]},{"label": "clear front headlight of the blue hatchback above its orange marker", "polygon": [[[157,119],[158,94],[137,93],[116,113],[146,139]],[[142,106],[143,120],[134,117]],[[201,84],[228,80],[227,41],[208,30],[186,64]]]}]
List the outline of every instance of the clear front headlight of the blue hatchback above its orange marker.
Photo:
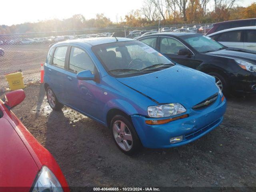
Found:
[{"label": "clear front headlight of the blue hatchback above its orange marker", "polygon": [[186,112],[186,109],[179,103],[169,103],[148,107],[148,116],[150,117],[169,117],[184,112]]}]

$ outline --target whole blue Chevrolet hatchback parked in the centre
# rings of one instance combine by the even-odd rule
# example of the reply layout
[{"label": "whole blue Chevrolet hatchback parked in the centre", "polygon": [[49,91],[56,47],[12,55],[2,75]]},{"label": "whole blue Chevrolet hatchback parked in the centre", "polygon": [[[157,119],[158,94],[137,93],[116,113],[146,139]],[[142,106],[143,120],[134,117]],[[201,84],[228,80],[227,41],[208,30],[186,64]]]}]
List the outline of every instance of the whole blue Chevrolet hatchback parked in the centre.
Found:
[{"label": "whole blue Chevrolet hatchback parked in the centre", "polygon": [[226,110],[212,76],[137,40],[59,42],[44,71],[51,108],[66,105],[107,126],[126,154],[192,142],[216,128]]}]

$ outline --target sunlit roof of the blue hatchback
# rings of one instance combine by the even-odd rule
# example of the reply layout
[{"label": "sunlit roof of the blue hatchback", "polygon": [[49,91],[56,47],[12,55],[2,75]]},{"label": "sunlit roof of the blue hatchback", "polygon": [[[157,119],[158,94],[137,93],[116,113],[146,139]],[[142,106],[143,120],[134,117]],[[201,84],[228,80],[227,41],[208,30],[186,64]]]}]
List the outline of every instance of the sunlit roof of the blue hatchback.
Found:
[{"label": "sunlit roof of the blue hatchback", "polygon": [[[123,38],[123,37],[116,37],[118,39],[118,42],[122,41],[133,41],[133,39],[129,38]],[[67,41],[62,41],[54,44],[54,46],[64,44],[64,43],[75,43],[78,45],[90,45],[90,46],[95,46],[95,45],[100,45],[100,44],[106,44],[106,43],[113,43],[116,42],[116,38],[114,37],[95,37],[95,38],[86,38],[86,39],[75,39],[75,40],[67,40]]]}]

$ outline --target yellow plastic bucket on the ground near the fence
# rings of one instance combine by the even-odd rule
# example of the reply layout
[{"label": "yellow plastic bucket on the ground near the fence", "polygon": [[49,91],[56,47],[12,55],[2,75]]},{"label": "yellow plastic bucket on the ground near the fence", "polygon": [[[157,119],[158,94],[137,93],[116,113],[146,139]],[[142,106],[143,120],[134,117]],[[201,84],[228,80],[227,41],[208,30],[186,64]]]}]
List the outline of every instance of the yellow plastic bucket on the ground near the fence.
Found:
[{"label": "yellow plastic bucket on the ground near the fence", "polygon": [[9,83],[10,89],[17,90],[17,89],[23,89],[24,82],[23,82],[23,76],[22,72],[15,72],[5,75],[6,80]]}]

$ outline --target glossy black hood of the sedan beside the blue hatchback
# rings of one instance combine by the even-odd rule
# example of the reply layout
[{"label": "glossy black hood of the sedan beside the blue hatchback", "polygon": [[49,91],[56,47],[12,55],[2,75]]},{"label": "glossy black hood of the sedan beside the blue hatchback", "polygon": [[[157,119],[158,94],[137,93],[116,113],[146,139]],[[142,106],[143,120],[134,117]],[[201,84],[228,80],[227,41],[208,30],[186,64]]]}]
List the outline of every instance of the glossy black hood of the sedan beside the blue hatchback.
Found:
[{"label": "glossy black hood of the sedan beside the blue hatchback", "polygon": [[229,57],[234,59],[240,59],[240,60],[248,60],[255,63],[256,61],[256,52],[246,49],[240,49],[240,48],[227,48],[223,50],[218,50],[214,52],[206,53],[208,55],[214,55],[214,56],[222,56],[222,57]]}]

